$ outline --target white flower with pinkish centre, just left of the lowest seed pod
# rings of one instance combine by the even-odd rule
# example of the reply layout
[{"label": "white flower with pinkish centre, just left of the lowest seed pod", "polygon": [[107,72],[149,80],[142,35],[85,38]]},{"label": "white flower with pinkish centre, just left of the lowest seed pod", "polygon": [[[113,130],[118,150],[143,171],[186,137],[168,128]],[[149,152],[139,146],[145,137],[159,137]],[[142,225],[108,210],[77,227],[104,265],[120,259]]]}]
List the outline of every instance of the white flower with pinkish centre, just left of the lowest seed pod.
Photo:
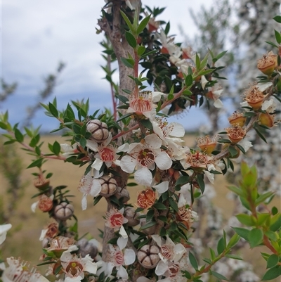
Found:
[{"label": "white flower with pinkish centre, just left of the lowest seed pod", "polygon": [[112,269],[116,267],[117,277],[128,279],[128,273],[123,265],[133,264],[136,260],[136,254],[131,249],[125,249],[128,243],[128,238],[119,237],[117,240],[117,246],[110,244],[110,257],[107,263],[107,273],[111,274]]}]

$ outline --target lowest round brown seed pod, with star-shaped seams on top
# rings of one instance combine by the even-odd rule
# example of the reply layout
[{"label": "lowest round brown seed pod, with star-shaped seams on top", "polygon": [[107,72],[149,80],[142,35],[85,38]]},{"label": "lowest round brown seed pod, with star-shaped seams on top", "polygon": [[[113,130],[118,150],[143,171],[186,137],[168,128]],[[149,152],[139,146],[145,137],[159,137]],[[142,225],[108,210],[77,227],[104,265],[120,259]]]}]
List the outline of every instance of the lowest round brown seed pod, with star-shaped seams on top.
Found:
[{"label": "lowest round brown seed pod, with star-shaped seams on top", "polygon": [[138,262],[147,269],[153,269],[160,260],[159,252],[157,245],[143,245],[138,251]]}]

